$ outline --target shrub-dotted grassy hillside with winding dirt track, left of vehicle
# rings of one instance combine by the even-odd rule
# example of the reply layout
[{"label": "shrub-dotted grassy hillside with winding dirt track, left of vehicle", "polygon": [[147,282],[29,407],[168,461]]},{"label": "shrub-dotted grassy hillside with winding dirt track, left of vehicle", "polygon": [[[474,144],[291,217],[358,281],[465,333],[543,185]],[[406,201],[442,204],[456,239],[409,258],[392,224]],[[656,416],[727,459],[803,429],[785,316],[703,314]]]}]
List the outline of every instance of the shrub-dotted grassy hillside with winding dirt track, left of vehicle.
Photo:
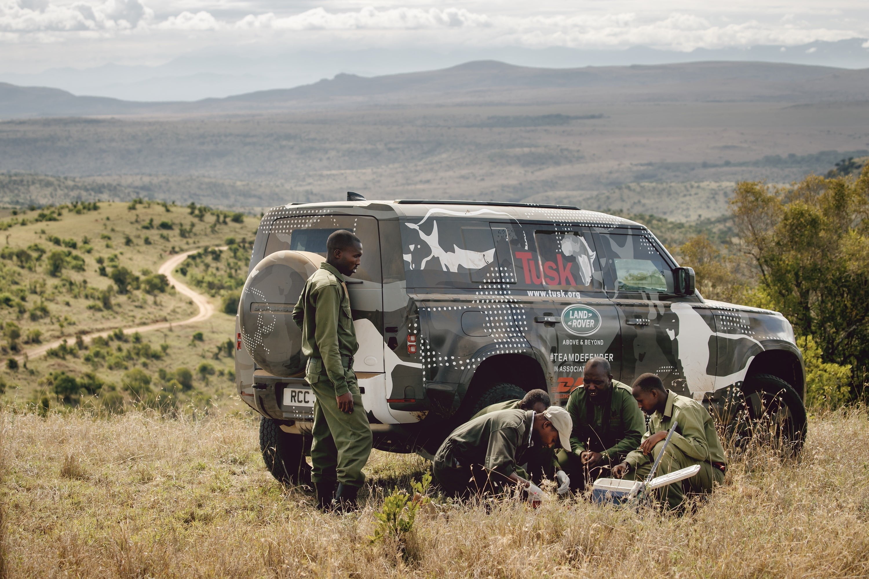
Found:
[{"label": "shrub-dotted grassy hillside with winding dirt track, left of vehicle", "polygon": [[[255,227],[242,214],[151,201],[0,213],[3,399],[109,408],[124,400],[175,406],[220,398],[216,386],[231,385],[232,316],[132,335],[121,328],[196,314],[157,273],[159,266],[177,253],[228,240],[235,252],[249,252]],[[78,337],[104,330],[116,332],[89,343]],[[67,342],[40,358],[26,355],[56,339]]]}]

